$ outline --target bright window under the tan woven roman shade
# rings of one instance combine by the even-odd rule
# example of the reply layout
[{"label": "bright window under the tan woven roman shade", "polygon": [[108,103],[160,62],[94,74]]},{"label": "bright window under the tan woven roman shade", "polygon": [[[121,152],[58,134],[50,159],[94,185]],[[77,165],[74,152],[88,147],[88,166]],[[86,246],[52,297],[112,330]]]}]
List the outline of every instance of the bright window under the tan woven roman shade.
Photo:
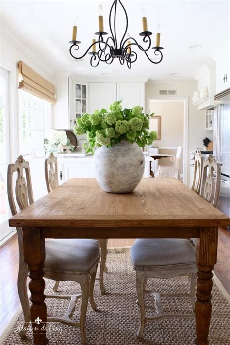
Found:
[{"label": "bright window under the tan woven roman shade", "polygon": [[51,104],[19,90],[20,154],[44,156],[43,140],[51,129]]}]

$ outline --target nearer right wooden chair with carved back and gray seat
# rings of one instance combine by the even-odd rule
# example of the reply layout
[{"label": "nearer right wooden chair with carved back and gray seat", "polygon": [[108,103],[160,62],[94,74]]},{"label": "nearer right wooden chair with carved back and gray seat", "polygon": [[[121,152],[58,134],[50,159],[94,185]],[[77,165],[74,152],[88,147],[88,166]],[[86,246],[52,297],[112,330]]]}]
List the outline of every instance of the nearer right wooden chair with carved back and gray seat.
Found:
[{"label": "nearer right wooden chair with carved back and gray seat", "polygon": [[[215,176],[214,176],[215,172]],[[209,155],[203,162],[201,174],[200,195],[212,205],[216,206],[220,190],[220,164],[216,163],[213,156]],[[164,313],[162,296],[189,297],[193,311],[195,311],[195,285],[196,285],[196,255],[195,248],[187,239],[137,239],[131,247],[131,261],[136,271],[136,289],[138,305],[141,313],[141,324],[138,338],[142,338],[145,322],[152,322],[164,318],[193,318],[190,314]],[[190,282],[189,294],[163,294],[146,290],[149,278],[172,278],[187,275]],[[144,294],[155,297],[156,315],[146,317]]]}]

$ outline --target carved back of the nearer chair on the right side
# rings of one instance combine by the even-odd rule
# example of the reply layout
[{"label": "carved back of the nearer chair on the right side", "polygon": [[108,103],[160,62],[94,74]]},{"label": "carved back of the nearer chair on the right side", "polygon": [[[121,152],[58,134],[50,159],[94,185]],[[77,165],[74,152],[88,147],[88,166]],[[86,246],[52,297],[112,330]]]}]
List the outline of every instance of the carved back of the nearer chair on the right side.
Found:
[{"label": "carved back of the nearer chair on the right side", "polygon": [[214,207],[220,194],[220,177],[220,164],[210,154],[203,162],[200,196]]}]

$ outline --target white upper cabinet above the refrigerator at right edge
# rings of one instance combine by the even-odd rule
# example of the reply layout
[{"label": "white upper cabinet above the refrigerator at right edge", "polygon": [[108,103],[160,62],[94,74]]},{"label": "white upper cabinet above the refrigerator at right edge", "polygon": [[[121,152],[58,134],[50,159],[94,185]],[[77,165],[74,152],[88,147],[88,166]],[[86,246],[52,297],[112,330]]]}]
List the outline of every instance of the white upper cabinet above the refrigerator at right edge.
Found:
[{"label": "white upper cabinet above the refrigerator at right edge", "polygon": [[229,44],[220,49],[213,59],[216,61],[216,93],[218,94],[230,87]]}]

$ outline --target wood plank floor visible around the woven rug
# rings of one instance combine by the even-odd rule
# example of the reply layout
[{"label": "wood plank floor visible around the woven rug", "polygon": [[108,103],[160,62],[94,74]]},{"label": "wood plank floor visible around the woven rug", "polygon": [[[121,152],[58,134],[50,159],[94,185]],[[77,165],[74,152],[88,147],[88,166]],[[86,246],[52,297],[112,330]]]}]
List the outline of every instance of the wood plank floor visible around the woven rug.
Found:
[{"label": "wood plank floor visible around the woven rug", "polygon": [[[109,247],[131,246],[134,239],[111,239]],[[9,324],[20,305],[17,293],[19,251],[17,236],[0,249],[0,333]],[[218,257],[214,269],[217,277],[230,294],[230,232],[220,228]]]}]

